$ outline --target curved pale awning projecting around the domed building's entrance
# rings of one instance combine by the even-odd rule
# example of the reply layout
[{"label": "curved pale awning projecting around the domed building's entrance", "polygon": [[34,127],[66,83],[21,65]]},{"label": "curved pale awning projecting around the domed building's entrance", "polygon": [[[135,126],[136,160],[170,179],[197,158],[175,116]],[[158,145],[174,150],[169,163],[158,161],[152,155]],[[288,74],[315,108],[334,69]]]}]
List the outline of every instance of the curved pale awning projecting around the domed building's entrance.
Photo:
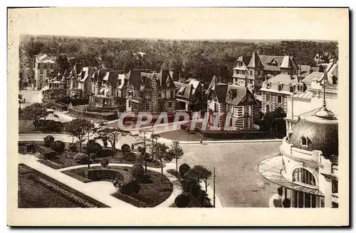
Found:
[{"label": "curved pale awning projecting around the domed building's entrance", "polygon": [[260,162],[258,165],[258,172],[260,172],[261,175],[267,180],[275,183],[276,185],[286,187],[290,190],[305,192],[310,195],[324,196],[323,192],[320,192],[320,190],[312,189],[302,185],[296,185],[295,183],[286,180],[281,174],[282,170],[283,162],[281,155],[269,157],[268,159]]}]

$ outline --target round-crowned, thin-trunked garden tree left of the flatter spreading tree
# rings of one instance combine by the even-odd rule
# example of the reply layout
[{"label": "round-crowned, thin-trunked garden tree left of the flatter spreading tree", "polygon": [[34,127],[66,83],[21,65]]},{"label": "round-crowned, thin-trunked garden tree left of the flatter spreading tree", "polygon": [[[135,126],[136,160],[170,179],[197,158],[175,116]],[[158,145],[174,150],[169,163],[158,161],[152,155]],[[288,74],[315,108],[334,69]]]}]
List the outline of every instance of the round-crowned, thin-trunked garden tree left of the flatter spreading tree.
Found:
[{"label": "round-crowned, thin-trunked garden tree left of the flatter spreading tree", "polygon": [[[82,143],[85,141],[85,135],[89,135],[94,125],[86,119],[71,120],[66,126],[66,131],[79,139],[79,152],[82,150]],[[90,168],[90,157],[88,156],[88,168]]]}]

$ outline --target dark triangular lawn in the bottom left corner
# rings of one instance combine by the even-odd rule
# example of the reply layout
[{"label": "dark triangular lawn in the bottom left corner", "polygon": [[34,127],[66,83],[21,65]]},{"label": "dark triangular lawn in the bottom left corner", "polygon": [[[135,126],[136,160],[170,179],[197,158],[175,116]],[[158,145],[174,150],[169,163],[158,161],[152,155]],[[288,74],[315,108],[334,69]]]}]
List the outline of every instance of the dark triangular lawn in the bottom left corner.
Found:
[{"label": "dark triangular lawn in the bottom left corner", "polygon": [[19,208],[107,207],[26,165],[19,165]]}]

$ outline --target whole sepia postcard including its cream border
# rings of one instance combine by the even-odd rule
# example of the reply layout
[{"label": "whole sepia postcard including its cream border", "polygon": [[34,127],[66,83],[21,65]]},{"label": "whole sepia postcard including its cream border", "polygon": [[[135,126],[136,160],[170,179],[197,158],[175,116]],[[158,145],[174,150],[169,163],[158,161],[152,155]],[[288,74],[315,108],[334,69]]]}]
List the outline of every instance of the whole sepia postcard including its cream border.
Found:
[{"label": "whole sepia postcard including its cream border", "polygon": [[350,224],[347,8],[8,9],[7,61],[9,226]]}]

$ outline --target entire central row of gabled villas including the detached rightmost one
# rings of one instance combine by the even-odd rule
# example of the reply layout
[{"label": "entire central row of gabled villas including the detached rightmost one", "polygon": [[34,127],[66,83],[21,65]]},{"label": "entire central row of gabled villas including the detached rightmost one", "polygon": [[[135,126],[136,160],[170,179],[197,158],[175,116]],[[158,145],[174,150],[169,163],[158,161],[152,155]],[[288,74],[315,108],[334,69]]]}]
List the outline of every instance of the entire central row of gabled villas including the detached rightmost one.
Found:
[{"label": "entire central row of gabled villas including the detached rightmost one", "polygon": [[217,83],[214,76],[204,91],[200,81],[189,78],[174,82],[174,73],[164,69],[159,73],[143,69],[125,73],[77,63],[70,72],[46,78],[45,84],[42,88],[45,98],[65,95],[88,98],[99,107],[125,105],[127,112],[199,111],[207,104],[209,125],[224,128],[226,118],[231,115],[227,126],[233,130],[253,129],[259,112],[248,88]]}]

